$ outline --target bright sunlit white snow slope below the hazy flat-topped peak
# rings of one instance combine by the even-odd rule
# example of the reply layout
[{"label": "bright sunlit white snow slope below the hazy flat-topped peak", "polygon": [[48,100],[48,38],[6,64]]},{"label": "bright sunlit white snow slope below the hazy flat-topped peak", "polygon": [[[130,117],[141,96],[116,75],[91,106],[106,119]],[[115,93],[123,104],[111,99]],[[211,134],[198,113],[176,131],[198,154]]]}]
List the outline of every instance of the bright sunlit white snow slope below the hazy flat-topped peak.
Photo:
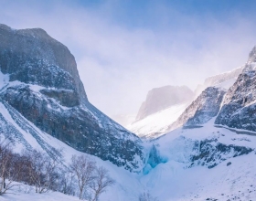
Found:
[{"label": "bright sunlit white snow slope below the hazy flat-topped peak", "polygon": [[145,117],[143,120],[133,122],[127,129],[143,138],[155,138],[165,132],[173,122],[186,110],[188,103],[176,104],[163,111],[158,111]]}]

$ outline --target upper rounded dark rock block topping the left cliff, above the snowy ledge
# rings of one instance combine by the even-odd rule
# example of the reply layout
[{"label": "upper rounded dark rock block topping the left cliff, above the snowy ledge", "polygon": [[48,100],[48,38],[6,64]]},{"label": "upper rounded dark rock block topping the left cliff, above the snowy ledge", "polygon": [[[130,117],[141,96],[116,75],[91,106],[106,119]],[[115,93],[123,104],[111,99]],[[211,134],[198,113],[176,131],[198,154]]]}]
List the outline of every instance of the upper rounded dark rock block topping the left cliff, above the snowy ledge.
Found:
[{"label": "upper rounded dark rock block topping the left cliff, above the snowy ledge", "polygon": [[46,31],[0,25],[0,41],[0,69],[10,80],[77,90],[87,100],[74,56]]}]

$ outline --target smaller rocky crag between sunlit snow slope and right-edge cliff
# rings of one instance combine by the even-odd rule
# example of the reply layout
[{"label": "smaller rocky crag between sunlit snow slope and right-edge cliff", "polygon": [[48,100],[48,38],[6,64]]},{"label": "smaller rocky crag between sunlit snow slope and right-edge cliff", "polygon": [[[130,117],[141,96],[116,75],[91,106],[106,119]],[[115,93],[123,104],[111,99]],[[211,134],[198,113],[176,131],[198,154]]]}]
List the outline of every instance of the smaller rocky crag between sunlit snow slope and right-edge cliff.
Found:
[{"label": "smaller rocky crag between sunlit snow slope and right-edge cliff", "polygon": [[204,90],[174,122],[169,130],[178,127],[197,126],[208,122],[211,118],[217,116],[226,90],[209,87]]}]

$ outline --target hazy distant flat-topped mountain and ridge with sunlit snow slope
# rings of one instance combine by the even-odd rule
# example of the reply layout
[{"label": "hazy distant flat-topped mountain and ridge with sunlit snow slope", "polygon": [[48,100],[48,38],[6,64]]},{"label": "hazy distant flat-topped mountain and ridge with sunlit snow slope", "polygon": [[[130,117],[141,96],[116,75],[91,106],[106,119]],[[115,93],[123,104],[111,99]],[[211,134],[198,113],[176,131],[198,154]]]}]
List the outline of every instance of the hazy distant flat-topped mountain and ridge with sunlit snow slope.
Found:
[{"label": "hazy distant flat-topped mountain and ridge with sunlit snow slope", "polygon": [[[194,92],[186,86],[165,86],[150,90],[138,111],[136,121],[128,125],[127,128],[140,137],[155,138],[184,124],[191,124],[193,121],[193,124],[205,122],[208,118],[217,115],[221,100],[225,94],[224,91],[229,90],[244,68],[244,66],[241,66],[229,72],[209,77],[205,79],[204,84],[198,85]],[[208,87],[211,88],[208,89]],[[216,96],[215,98],[218,100],[213,100],[212,96]],[[194,101],[192,102],[193,99]],[[206,102],[208,106],[198,103],[201,101]],[[216,102],[210,103],[211,101]],[[189,106],[190,103],[191,105]],[[211,108],[212,105],[213,108]],[[202,117],[202,120],[197,121],[194,118],[192,121],[190,118],[197,115],[202,110],[202,107],[208,107],[208,109],[212,110],[208,111],[211,114],[208,113],[208,116],[205,113],[208,117]]]}]

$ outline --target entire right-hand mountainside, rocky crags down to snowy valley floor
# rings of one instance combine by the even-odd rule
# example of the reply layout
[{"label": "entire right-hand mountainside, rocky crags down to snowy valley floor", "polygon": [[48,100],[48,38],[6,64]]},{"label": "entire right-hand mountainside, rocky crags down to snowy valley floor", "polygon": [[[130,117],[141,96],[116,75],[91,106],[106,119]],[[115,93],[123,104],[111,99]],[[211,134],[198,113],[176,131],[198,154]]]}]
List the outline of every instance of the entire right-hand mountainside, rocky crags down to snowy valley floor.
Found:
[{"label": "entire right-hand mountainside, rocky crags down to snowy valley floor", "polygon": [[160,200],[253,200],[256,197],[253,184],[256,163],[251,161],[256,157],[256,132],[251,129],[255,49],[228,92],[221,86],[227,80],[208,87],[173,123],[174,128],[169,129],[179,128],[152,141],[158,155],[152,158],[160,163],[146,164],[144,172],[148,175],[144,181],[153,188],[157,186],[158,191],[161,189],[161,195],[153,190]]}]

